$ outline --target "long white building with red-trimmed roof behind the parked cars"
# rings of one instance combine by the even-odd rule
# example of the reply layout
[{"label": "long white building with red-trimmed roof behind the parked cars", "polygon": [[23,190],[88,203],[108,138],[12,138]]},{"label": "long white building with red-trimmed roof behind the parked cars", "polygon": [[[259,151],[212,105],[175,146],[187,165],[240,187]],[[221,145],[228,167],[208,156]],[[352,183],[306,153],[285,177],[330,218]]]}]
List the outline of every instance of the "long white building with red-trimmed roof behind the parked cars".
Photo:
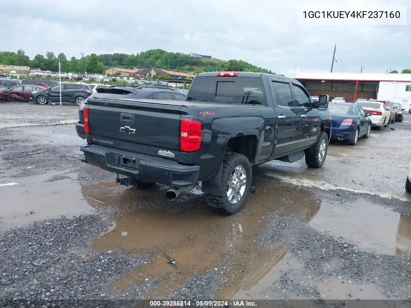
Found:
[{"label": "long white building with red-trimmed roof behind the parked cars", "polygon": [[388,99],[400,103],[406,110],[411,105],[411,74],[300,72],[294,79],[302,82],[311,95],[318,95],[320,92],[334,94],[335,91],[335,96],[345,96],[352,100]]}]

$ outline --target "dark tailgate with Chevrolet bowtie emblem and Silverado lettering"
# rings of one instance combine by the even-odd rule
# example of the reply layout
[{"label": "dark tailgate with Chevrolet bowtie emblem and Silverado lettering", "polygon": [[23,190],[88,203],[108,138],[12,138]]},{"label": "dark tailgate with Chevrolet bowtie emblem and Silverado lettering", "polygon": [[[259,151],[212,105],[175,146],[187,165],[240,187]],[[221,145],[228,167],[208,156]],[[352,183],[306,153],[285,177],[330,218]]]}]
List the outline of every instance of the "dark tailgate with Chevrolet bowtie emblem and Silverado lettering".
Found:
[{"label": "dark tailgate with Chevrolet bowtie emblem and Silverado lettering", "polygon": [[180,106],[161,102],[89,99],[88,142],[178,160]]}]

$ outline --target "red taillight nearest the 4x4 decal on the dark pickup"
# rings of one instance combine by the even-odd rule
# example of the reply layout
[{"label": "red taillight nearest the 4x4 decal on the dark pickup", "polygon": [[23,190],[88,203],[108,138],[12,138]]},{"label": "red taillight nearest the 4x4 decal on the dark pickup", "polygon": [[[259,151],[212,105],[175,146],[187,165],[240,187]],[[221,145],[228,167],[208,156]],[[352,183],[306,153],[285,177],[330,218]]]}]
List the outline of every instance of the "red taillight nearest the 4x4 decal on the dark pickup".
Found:
[{"label": "red taillight nearest the 4x4 decal on the dark pickup", "polygon": [[201,148],[202,126],[198,120],[180,119],[180,151],[194,152]]}]

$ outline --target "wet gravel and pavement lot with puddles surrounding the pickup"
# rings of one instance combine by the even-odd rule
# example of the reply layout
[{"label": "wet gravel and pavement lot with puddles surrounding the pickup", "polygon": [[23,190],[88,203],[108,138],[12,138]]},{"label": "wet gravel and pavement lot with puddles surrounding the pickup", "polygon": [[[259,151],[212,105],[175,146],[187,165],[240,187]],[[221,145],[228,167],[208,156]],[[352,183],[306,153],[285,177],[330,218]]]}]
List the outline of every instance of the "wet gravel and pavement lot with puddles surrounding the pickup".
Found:
[{"label": "wet gravel and pavement lot with puddles surrounding the pickup", "polygon": [[199,187],[116,186],[73,125],[0,129],[0,299],[410,298],[410,120],[332,142],[321,169],[259,166],[232,216]]}]

